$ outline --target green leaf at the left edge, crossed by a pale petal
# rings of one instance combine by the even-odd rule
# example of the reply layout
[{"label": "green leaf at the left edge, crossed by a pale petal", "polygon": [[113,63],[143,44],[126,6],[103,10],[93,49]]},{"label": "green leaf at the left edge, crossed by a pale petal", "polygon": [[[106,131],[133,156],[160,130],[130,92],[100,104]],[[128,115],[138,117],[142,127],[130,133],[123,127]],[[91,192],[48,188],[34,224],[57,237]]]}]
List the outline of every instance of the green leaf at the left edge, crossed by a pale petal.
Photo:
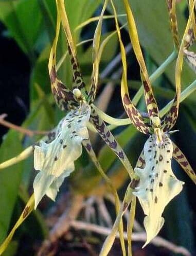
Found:
[{"label": "green leaf at the left edge, crossed by a pale petal", "polygon": [[[22,151],[19,134],[10,130],[0,148],[0,162],[17,156]],[[0,243],[6,237],[17,192],[21,182],[23,163],[5,168],[0,172]]]}]

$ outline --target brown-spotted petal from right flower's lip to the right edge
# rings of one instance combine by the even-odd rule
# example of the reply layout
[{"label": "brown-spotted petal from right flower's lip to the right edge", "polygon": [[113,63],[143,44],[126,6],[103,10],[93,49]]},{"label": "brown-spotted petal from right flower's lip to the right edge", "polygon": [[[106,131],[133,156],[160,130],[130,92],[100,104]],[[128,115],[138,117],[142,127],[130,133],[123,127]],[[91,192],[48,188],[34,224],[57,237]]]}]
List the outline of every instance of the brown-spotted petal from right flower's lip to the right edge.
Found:
[{"label": "brown-spotted petal from right flower's lip to the right edge", "polygon": [[172,157],[180,164],[180,166],[183,168],[185,173],[196,184],[196,175],[195,175],[192,167],[190,166],[188,160],[186,159],[185,155],[180,150],[180,148],[177,147],[174,142],[172,142],[172,144],[173,144],[173,155],[172,155]]}]

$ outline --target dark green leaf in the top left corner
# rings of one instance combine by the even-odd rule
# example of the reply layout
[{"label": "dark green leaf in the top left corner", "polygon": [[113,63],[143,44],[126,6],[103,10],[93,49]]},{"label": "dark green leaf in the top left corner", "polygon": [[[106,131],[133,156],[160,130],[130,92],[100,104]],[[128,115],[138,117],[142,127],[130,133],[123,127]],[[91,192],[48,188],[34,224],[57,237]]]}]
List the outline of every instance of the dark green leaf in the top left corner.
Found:
[{"label": "dark green leaf in the top left corner", "polygon": [[5,1],[0,3],[0,9],[0,20],[9,29],[11,36],[31,59],[34,58],[33,48],[42,28],[37,1]]}]

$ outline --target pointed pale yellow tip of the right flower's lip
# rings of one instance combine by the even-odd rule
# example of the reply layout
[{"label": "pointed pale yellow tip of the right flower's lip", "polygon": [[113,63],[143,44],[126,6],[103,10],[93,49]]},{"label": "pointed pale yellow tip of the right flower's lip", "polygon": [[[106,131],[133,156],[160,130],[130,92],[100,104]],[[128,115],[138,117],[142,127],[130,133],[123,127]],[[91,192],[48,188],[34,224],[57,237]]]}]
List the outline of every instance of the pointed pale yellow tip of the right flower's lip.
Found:
[{"label": "pointed pale yellow tip of the right flower's lip", "polygon": [[146,240],[146,243],[142,246],[142,248],[147,246],[153,240],[153,238],[162,229],[164,222],[165,220],[163,217],[159,217],[159,218],[154,218],[154,217],[152,218],[150,216],[145,217],[144,226],[147,233],[147,240]]}]

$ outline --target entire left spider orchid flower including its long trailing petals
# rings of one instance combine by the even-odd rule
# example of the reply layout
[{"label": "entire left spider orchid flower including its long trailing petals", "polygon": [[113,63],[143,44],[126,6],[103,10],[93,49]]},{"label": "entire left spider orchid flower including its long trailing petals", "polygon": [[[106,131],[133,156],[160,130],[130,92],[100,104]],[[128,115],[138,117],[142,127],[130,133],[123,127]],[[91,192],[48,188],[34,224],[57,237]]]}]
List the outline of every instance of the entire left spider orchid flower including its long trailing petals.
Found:
[{"label": "entire left spider orchid flower including its long trailing petals", "polygon": [[[118,212],[120,209],[120,201],[117,191],[111,180],[102,170],[96,158],[91,142],[88,139],[88,127],[90,127],[93,129],[93,131],[96,131],[101,136],[103,141],[114,151],[116,156],[126,168],[130,177],[133,177],[134,171],[127,156],[112,135],[109,128],[104,123],[104,121],[106,121],[108,124],[112,124],[113,122],[116,124],[118,123],[118,120],[108,115],[104,115],[93,105],[98,85],[99,62],[101,59],[101,54],[106,42],[111,37],[108,36],[108,38],[104,39],[100,45],[102,20],[107,3],[108,0],[105,0],[94,35],[93,73],[90,90],[87,90],[77,60],[76,48],[69,28],[64,1],[56,0],[57,29],[56,37],[50,50],[48,69],[52,94],[55,97],[58,107],[62,111],[66,112],[66,116],[59,122],[59,125],[54,130],[49,132],[38,144],[35,146],[30,146],[19,156],[0,164],[0,169],[5,168],[27,158],[32,152],[34,152],[34,168],[35,170],[39,171],[33,183],[34,194],[30,197],[23,213],[12,228],[6,240],[0,246],[0,255],[8,246],[15,230],[22,224],[33,208],[37,208],[43,196],[47,195],[52,200],[55,200],[63,180],[75,169],[74,162],[82,153],[82,145],[86,149],[88,155],[90,155],[98,171],[106,181],[106,184],[109,185],[111,192],[114,194],[116,212]],[[68,53],[72,64],[73,90],[68,89],[68,87],[63,84],[57,75],[56,51],[61,23],[65,32]],[[102,120],[101,115],[103,116],[104,121]],[[119,122],[120,125],[130,123],[130,120],[123,120],[122,122]],[[125,252],[123,226],[121,220],[119,221],[118,230],[120,233],[121,247]]]}]

